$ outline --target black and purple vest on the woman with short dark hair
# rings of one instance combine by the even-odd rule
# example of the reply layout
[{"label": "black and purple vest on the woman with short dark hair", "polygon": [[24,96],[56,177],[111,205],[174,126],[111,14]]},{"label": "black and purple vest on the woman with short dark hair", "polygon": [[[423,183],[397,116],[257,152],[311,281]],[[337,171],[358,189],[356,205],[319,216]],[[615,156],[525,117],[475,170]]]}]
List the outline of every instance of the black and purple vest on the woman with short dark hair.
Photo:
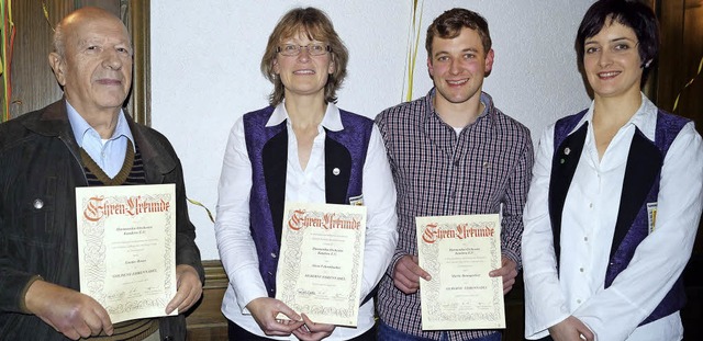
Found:
[{"label": "black and purple vest on the woman with short dark hair", "polygon": [[[549,181],[549,216],[554,234],[554,248],[559,263],[559,236],[561,214],[571,180],[583,151],[588,122],[578,130],[569,133],[581,121],[587,111],[557,121],[554,133],[554,156]],[[627,268],[637,246],[649,235],[647,203],[656,203],[663,159],[679,132],[689,120],[661,110],[657,113],[655,140],[649,140],[636,129],[627,156],[625,178],[620,200],[615,232],[611,245],[610,262],[605,273],[604,287],[607,288],[623,270]],[[667,293],[655,310],[639,326],[647,325],[680,310],[685,305],[682,277]]]}]

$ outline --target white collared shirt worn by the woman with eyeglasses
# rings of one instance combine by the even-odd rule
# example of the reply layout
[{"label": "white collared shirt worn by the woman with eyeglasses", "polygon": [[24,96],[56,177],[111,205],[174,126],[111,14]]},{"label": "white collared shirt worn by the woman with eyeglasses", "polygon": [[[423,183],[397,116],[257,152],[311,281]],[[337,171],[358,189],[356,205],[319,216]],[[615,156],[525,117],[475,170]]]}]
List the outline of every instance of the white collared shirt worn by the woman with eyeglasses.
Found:
[{"label": "white collared shirt worn by the woman with eyeglasses", "polygon": [[[339,110],[327,104],[327,111],[317,126],[310,160],[302,169],[298,159],[298,143],[283,103],[279,104],[266,126],[287,122],[288,162],[286,170],[286,200],[325,203],[325,128],[342,130]],[[395,248],[395,191],[386,158],[386,150],[378,128],[373,126],[366,162],[364,163],[364,205],[367,207],[367,234],[364,248],[364,275],[361,297],[376,286],[383,275]],[[215,237],[220,258],[230,276],[230,286],[222,303],[225,317],[252,333],[264,336],[252,315],[245,308],[255,298],[268,297],[258,270],[256,247],[249,231],[249,193],[252,190],[252,163],[247,154],[244,123],[239,118],[233,126],[222,167],[219,185]],[[305,311],[298,311],[305,312]],[[361,334],[373,326],[373,300],[359,308],[357,328],[336,327],[330,340],[346,340]],[[277,340],[297,340],[274,338]]]}]

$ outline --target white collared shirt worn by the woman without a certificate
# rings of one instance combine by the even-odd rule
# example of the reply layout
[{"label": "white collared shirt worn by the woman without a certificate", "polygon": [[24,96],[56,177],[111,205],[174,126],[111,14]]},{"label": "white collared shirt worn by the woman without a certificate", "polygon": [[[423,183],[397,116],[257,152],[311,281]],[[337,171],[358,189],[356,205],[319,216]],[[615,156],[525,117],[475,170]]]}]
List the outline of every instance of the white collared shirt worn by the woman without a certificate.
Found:
[{"label": "white collared shirt worn by the woman without a certificate", "polygon": [[[548,213],[554,125],[539,140],[534,181],[525,207],[525,337],[538,339],[570,315],[598,340],[680,340],[679,312],[637,328],[659,305],[683,271],[693,248],[703,204],[703,145],[693,123],[676,137],[661,169],[655,231],[637,247],[627,268],[605,289],[617,207],[636,128],[655,140],[657,107],[643,94],[635,115],[599,158],[593,135],[593,104],[583,152],[567,194],[557,273]],[[563,250],[568,250],[565,252]]]}]

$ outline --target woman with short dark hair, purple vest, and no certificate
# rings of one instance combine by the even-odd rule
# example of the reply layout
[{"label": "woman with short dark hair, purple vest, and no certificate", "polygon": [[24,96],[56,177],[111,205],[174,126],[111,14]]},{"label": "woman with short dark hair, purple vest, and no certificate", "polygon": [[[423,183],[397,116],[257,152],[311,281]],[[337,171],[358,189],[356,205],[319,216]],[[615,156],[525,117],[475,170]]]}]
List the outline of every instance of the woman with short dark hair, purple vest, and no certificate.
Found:
[{"label": "woman with short dark hair, purple vest, and no certificate", "polygon": [[596,1],[576,49],[593,102],[539,141],[524,213],[525,337],[681,340],[701,136],[640,92],[659,49],[650,8]]}]

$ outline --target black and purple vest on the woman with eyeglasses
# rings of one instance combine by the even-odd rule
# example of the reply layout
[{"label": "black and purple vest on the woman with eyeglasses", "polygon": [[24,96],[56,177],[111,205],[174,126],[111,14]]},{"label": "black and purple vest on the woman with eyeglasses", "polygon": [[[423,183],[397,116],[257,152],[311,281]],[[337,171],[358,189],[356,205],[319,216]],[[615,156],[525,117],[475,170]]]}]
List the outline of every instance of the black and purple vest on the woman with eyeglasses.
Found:
[{"label": "black and purple vest on the woman with eyeglasses", "polygon": [[[244,115],[246,148],[252,161],[250,231],[259,273],[269,297],[276,296],[276,269],[286,201],[288,129],[286,121],[267,127],[274,106]],[[327,204],[349,204],[361,195],[366,152],[373,121],[339,110],[344,129],[325,129],[325,197]]]}]

